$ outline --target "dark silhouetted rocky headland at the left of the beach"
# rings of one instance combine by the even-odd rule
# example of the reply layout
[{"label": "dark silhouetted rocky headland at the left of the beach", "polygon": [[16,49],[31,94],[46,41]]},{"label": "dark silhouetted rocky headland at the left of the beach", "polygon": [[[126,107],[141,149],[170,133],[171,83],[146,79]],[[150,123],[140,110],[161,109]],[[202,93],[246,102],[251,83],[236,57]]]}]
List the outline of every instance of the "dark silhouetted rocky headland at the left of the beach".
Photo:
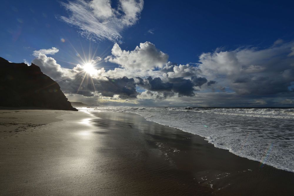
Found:
[{"label": "dark silhouetted rocky headland at the left of the beach", "polygon": [[10,63],[0,57],[0,95],[0,106],[77,111],[60,86],[33,63]]}]

